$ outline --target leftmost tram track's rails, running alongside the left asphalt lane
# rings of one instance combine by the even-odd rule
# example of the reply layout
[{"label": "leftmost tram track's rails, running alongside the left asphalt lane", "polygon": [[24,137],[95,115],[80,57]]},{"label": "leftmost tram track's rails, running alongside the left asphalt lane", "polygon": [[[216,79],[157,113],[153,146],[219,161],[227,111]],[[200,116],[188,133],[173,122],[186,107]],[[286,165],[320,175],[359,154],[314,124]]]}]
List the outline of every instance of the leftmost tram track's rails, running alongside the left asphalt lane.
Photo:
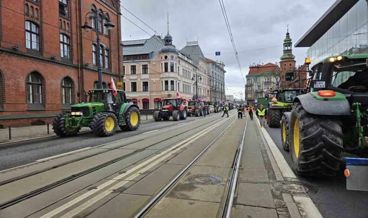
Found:
[{"label": "leftmost tram track's rails, running alongside the left asphalt lane", "polygon": [[[231,116],[234,116],[234,115],[231,115]],[[211,118],[211,117],[210,117],[210,118]],[[197,119],[197,120],[190,121],[190,122],[187,122],[187,123],[185,123],[185,124],[190,124],[190,123],[195,122],[195,121],[198,121],[198,119]],[[199,122],[200,122],[200,121],[199,121]],[[215,119],[215,120],[211,120],[211,121],[209,121],[209,122],[206,122],[206,123],[204,123],[204,124],[201,124],[201,125],[198,125],[198,126],[194,126],[194,127],[192,127],[190,130],[192,130],[192,129],[196,129],[196,128],[199,128],[199,127],[201,127],[201,126],[203,126],[203,125],[207,125],[207,124],[210,124],[210,123],[213,123],[213,122],[218,122],[218,120],[217,120],[217,119]],[[172,126],[170,126],[170,127],[172,127]],[[167,127],[167,128],[170,128],[170,127]],[[182,126],[182,127],[184,127],[184,126]],[[166,128],[164,128],[164,129],[166,129]],[[160,129],[160,130],[162,130],[162,129]],[[204,129],[204,130],[205,130],[205,129]],[[153,131],[155,131],[155,130],[153,130]],[[187,131],[189,131],[189,130],[187,130]],[[148,145],[148,146],[146,146],[146,147],[144,147],[144,148],[138,149],[138,150],[136,150],[136,151],[134,151],[134,152],[132,152],[132,153],[129,153],[129,154],[127,154],[127,155],[124,155],[124,156],[121,156],[121,157],[118,157],[118,158],[114,158],[114,159],[112,159],[112,160],[109,160],[109,161],[107,161],[107,162],[104,162],[104,163],[102,163],[102,164],[99,164],[99,165],[97,165],[97,166],[95,166],[95,167],[93,167],[93,168],[90,168],[90,169],[88,169],[88,170],[81,171],[81,172],[79,172],[79,173],[77,173],[77,174],[70,175],[70,176],[68,176],[68,177],[66,177],[66,178],[64,178],[64,179],[61,179],[61,180],[57,181],[57,182],[54,182],[54,183],[49,184],[49,185],[47,185],[47,186],[44,186],[44,187],[42,187],[42,188],[38,188],[38,189],[33,190],[33,191],[31,191],[31,192],[29,192],[29,193],[27,193],[27,194],[24,194],[24,195],[21,195],[21,196],[19,196],[19,197],[16,197],[16,198],[14,198],[14,199],[12,199],[12,200],[9,200],[9,201],[6,201],[6,202],[3,202],[3,203],[1,203],[1,204],[0,204],[0,209],[7,208],[7,207],[9,207],[9,206],[12,206],[12,205],[14,205],[14,204],[18,203],[18,202],[24,201],[24,200],[26,200],[26,199],[29,199],[29,198],[34,197],[34,196],[36,196],[36,195],[39,195],[39,194],[41,194],[41,193],[43,193],[43,192],[46,192],[46,191],[48,191],[48,190],[50,190],[50,189],[53,189],[53,188],[55,188],[55,187],[59,187],[59,186],[61,186],[61,185],[65,184],[65,183],[68,183],[68,182],[70,182],[70,181],[72,181],[72,180],[75,180],[75,179],[77,179],[77,178],[79,178],[79,177],[81,177],[81,176],[84,176],[84,175],[87,175],[87,174],[89,174],[89,173],[91,173],[91,172],[94,172],[94,171],[100,170],[100,169],[102,169],[102,168],[104,168],[104,167],[106,167],[106,166],[109,166],[109,165],[111,165],[111,164],[113,164],[113,163],[115,163],[115,162],[121,161],[121,160],[123,160],[123,159],[125,159],[125,158],[127,158],[127,157],[129,157],[129,156],[133,156],[133,155],[135,155],[135,154],[138,154],[139,152],[142,152],[142,151],[144,151],[144,150],[146,150],[146,149],[148,149],[148,148],[150,148],[150,147],[152,147],[152,146],[154,146],[154,145],[156,145],[156,144],[162,143],[162,142],[164,142],[164,141],[166,141],[166,140],[172,140],[173,138],[175,138],[175,137],[177,137],[177,136],[180,136],[180,135],[182,135],[182,134],[186,133],[187,131],[183,131],[182,133],[176,134],[176,135],[174,135],[174,136],[170,135],[170,136],[169,136],[169,137],[167,137],[166,139],[163,139],[163,140],[160,140],[160,141],[158,141],[158,142],[155,142],[155,143],[153,143],[153,144],[151,144],[151,145]],[[148,133],[149,133],[149,132],[148,132]],[[144,136],[144,135],[146,135],[146,134],[147,134],[147,133],[143,133],[143,134],[138,135],[138,136],[141,136],[141,137],[142,137],[142,136]],[[138,136],[135,136],[135,137],[138,137]],[[133,137],[131,137],[131,138],[133,138]],[[58,165],[55,165],[55,166],[52,166],[52,167],[48,167],[48,168],[43,169],[43,170],[40,170],[40,171],[34,171],[34,172],[31,172],[31,173],[27,173],[27,174],[24,174],[24,175],[21,175],[21,176],[18,176],[18,177],[15,177],[15,178],[9,179],[9,180],[5,180],[5,181],[3,181],[3,182],[1,182],[1,183],[0,183],[0,186],[3,186],[3,185],[6,185],[6,184],[9,184],[9,183],[15,182],[15,181],[20,180],[20,179],[25,179],[25,178],[27,178],[27,177],[30,177],[30,176],[33,176],[33,175],[37,175],[37,174],[42,173],[42,172],[46,172],[46,171],[49,171],[49,170],[53,170],[53,169],[59,168],[59,167],[61,167],[61,166],[65,166],[65,165],[68,165],[68,164],[71,164],[71,163],[74,163],[74,162],[77,162],[77,161],[80,161],[80,160],[83,160],[83,159],[86,159],[86,158],[89,158],[89,157],[92,157],[92,156],[96,156],[96,155],[99,155],[99,154],[103,154],[103,153],[106,153],[106,152],[110,152],[110,151],[113,151],[113,150],[115,150],[115,149],[119,149],[119,148],[122,148],[122,147],[124,147],[124,146],[129,145],[129,144],[132,144],[132,143],[135,143],[135,142],[139,142],[139,141],[142,141],[142,140],[146,140],[146,139],[148,139],[148,138],[135,140],[135,141],[133,141],[133,142],[126,143],[126,144],[123,144],[123,145],[119,145],[119,146],[116,146],[116,147],[113,147],[113,148],[109,148],[109,149],[106,149],[105,151],[101,151],[101,152],[98,152],[98,153],[95,153],[95,154],[92,154],[92,155],[89,155],[89,156],[83,156],[83,157],[80,157],[80,158],[76,158],[76,159],[74,159],[74,160],[67,161],[67,162],[65,162],[65,163],[61,163],[61,164],[58,164]],[[180,141],[180,140],[178,140],[178,141]],[[173,144],[177,143],[178,141],[175,141],[175,142],[171,143],[169,146],[172,146]],[[115,141],[115,142],[116,142],[116,141]],[[115,142],[109,142],[109,143],[115,143]],[[109,143],[107,143],[107,144],[109,144]],[[106,145],[106,144],[104,144],[104,145]],[[100,147],[100,146],[102,146],[102,145],[99,145],[99,146],[96,146],[96,147]],[[93,147],[93,148],[95,148],[95,147]],[[93,148],[91,148],[91,149],[93,149]],[[37,162],[37,164],[38,164],[38,163],[39,163],[39,162]]]}]

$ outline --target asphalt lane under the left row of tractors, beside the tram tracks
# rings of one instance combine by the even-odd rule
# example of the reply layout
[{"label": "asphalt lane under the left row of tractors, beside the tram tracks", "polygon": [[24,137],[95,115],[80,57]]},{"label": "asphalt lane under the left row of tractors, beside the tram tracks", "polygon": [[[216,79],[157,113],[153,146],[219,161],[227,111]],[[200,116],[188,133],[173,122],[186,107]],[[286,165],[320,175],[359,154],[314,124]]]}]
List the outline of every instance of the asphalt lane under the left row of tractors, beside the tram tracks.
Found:
[{"label": "asphalt lane under the left row of tractors, beside the tram tracks", "polygon": [[[211,113],[209,116],[219,116],[219,114],[220,113]],[[92,132],[82,132],[75,137],[51,137],[2,145],[0,146],[0,171],[28,164],[46,157],[56,156],[87,147],[94,147],[115,140],[122,140],[124,138],[137,136],[144,132],[162,129],[201,118],[203,117],[191,116],[187,117],[186,120],[177,122],[173,121],[172,118],[170,118],[169,121],[161,122],[144,122],[143,120],[138,130],[123,132],[120,128],[117,128],[115,135],[111,137],[97,137]]]}]

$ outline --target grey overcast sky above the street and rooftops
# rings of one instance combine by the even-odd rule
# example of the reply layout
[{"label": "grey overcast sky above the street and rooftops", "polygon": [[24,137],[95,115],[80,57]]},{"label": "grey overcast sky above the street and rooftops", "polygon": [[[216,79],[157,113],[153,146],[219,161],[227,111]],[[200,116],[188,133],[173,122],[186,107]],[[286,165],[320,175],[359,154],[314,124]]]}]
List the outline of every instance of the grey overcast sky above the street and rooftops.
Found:
[{"label": "grey overcast sky above the street and rooftops", "polygon": [[[244,78],[249,64],[280,61],[287,24],[292,42],[296,43],[335,1],[223,0]],[[226,94],[240,98],[239,92],[245,92],[235,54],[225,54],[233,49],[218,0],[122,0],[122,5],[162,36],[167,33],[169,12],[173,44],[182,49],[186,41],[198,39],[205,57],[225,63]],[[121,12],[150,35],[154,34],[123,8]],[[124,17],[122,33],[123,40],[150,38]],[[267,47],[273,48],[249,51]],[[221,51],[221,56],[215,56],[215,51]],[[296,64],[303,64],[307,48],[293,47],[293,54]]]}]

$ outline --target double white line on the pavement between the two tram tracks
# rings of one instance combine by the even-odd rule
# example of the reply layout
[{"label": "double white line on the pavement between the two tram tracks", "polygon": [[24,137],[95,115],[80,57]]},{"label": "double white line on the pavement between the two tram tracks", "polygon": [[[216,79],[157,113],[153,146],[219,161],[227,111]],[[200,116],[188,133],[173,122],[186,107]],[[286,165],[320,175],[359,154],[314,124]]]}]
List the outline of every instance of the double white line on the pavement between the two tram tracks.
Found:
[{"label": "double white line on the pavement between the two tram tracks", "polygon": [[[123,177],[127,176],[128,174],[138,170],[139,168],[145,166],[146,164],[150,163],[151,161],[155,160],[154,162],[152,162],[150,165],[146,166],[145,168],[137,171],[136,173],[134,173],[133,175],[129,176],[128,178],[126,178],[126,180],[131,180],[135,177],[137,177],[138,175],[140,175],[142,172],[152,168],[154,165],[156,165],[157,163],[161,162],[162,160],[166,159],[167,157],[171,156],[172,154],[176,153],[177,151],[179,151],[180,149],[184,148],[185,146],[187,146],[188,144],[192,143],[193,141],[199,139],[200,137],[206,135],[208,132],[212,131],[213,129],[215,129],[218,125],[222,125],[223,123],[225,123],[227,120],[223,120],[220,121],[219,123],[211,126],[210,128],[208,128],[207,130],[203,131],[203,132],[199,132],[193,136],[191,136],[190,138],[183,140],[181,142],[179,142],[178,144],[174,145],[173,147],[169,148],[168,150],[165,150],[164,152],[162,152],[161,154],[158,154],[156,156],[153,156],[152,158],[144,161],[143,163],[137,165],[136,167],[116,176],[115,178],[105,182],[104,184],[96,187],[95,189],[90,190],[89,192],[84,193],[83,195],[77,197],[76,199],[67,202],[65,204],[63,204],[62,206],[54,209],[53,211],[45,214],[44,216],[42,216],[41,218],[49,218],[52,216],[57,215],[58,213],[60,213],[61,211],[69,208],[70,206],[76,204],[77,202],[82,201],[83,199],[87,198],[88,196],[92,195],[93,193],[101,190],[104,187],[107,187],[109,185],[111,185],[112,183],[116,182],[116,180],[121,180]],[[74,215],[78,214],[79,212],[81,212],[82,210],[86,209],[87,207],[91,206],[93,203],[99,201],[100,199],[104,198],[105,196],[107,196],[109,193],[112,192],[113,189],[117,189],[121,186],[123,186],[124,184],[126,184],[129,181],[122,181],[119,182],[118,184],[116,184],[115,186],[107,189],[106,191],[100,193],[99,195],[95,196],[94,198],[92,198],[90,201],[83,203],[82,205],[78,206],[77,208],[75,208],[74,210],[70,211],[69,213],[65,214],[64,216],[62,216],[62,218],[66,218],[66,217],[73,217]]]}]

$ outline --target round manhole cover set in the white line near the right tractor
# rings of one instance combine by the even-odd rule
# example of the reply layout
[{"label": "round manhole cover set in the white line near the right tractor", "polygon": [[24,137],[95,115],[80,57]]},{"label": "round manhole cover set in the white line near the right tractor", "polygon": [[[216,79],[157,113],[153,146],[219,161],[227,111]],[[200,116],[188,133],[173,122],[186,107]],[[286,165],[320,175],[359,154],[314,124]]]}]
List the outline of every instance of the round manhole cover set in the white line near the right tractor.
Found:
[{"label": "round manhole cover set in the white line near the right tractor", "polygon": [[310,195],[317,192],[317,188],[300,182],[294,181],[279,181],[274,184],[274,187],[282,193]]}]

